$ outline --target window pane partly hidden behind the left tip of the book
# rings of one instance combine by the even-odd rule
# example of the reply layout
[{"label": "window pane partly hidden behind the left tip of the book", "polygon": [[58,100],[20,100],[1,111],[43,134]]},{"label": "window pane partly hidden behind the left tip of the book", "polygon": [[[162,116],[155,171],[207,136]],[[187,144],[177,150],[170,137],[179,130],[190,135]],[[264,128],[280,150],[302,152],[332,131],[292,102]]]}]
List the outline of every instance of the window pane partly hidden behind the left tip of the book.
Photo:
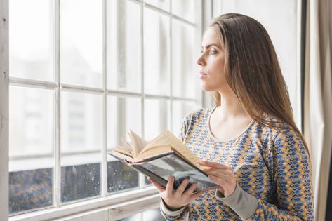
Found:
[{"label": "window pane partly hidden behind the left tip of the book", "polygon": [[[121,145],[121,138],[129,140],[127,131],[141,135],[140,98],[107,97],[107,150]],[[138,173],[107,154],[107,190],[117,192],[138,187]]]}]

